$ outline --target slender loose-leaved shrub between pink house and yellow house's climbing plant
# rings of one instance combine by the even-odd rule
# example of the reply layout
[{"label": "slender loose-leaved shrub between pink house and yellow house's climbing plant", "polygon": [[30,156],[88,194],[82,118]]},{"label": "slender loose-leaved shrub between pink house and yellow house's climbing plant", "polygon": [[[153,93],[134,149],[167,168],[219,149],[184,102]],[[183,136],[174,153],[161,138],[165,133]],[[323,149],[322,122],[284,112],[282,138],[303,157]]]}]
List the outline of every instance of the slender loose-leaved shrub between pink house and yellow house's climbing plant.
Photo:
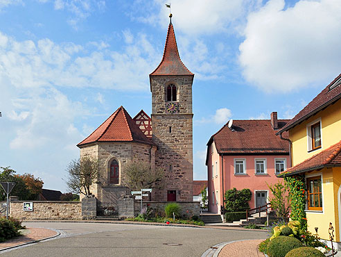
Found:
[{"label": "slender loose-leaved shrub between pink house and yellow house's climbing plant", "polygon": [[288,215],[290,212],[290,200],[288,196],[288,187],[286,184],[279,182],[274,185],[268,185],[273,197],[269,197],[272,208],[276,211],[277,217],[281,217],[288,222]]}]

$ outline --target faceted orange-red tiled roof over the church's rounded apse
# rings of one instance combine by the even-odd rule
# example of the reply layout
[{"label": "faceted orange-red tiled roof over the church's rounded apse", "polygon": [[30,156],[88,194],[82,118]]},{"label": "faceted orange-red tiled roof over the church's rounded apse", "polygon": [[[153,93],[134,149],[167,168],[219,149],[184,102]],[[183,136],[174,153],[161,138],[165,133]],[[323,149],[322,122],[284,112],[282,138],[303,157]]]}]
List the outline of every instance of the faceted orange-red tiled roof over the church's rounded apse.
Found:
[{"label": "faceted orange-red tiled roof over the church's rounded apse", "polygon": [[92,142],[140,142],[153,144],[121,106],[103,124],[101,124],[78,147]]}]

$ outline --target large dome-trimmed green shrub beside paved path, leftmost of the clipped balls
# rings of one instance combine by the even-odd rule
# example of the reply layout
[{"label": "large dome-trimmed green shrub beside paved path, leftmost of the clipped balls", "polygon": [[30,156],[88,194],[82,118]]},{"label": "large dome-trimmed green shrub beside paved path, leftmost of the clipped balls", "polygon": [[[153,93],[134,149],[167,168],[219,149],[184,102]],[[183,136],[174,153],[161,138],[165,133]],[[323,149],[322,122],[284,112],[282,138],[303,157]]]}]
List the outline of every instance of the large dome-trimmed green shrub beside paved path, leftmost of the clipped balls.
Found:
[{"label": "large dome-trimmed green shrub beside paved path, leftmost of the clipped balls", "polygon": [[303,244],[297,238],[279,235],[268,243],[266,253],[270,257],[284,257],[292,249],[302,246]]}]

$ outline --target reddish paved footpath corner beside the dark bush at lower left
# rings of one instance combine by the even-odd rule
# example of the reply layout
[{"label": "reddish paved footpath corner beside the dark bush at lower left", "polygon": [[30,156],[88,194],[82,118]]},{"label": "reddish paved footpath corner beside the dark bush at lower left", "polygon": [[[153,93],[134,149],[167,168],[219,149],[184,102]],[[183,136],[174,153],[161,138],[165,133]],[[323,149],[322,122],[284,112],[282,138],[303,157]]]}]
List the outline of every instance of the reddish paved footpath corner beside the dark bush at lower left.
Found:
[{"label": "reddish paved footpath corner beside the dark bush at lower left", "polygon": [[55,235],[58,235],[58,232],[56,231],[42,228],[27,228],[21,231],[24,235],[21,235],[17,238],[12,238],[10,240],[7,240],[6,242],[0,242],[0,250],[10,247],[16,247],[21,244],[27,244],[29,242],[44,240],[46,238],[52,238]]}]

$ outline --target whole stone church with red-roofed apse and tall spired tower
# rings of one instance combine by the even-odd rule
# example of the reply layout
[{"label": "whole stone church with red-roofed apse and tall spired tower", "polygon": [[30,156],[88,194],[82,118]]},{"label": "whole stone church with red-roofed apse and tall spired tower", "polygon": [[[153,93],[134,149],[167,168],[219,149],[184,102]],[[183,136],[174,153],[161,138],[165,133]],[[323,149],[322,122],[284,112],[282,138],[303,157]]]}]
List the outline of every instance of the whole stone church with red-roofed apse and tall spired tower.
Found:
[{"label": "whole stone church with red-roofed apse and tall spired tower", "polygon": [[149,75],[151,115],[141,110],[132,118],[121,106],[77,145],[81,158],[98,159],[104,179],[91,192],[101,206],[130,194],[121,178],[132,160],[164,169],[164,188],[153,190],[151,201],[193,201],[193,77],[180,59],[170,22],[161,63]]}]

